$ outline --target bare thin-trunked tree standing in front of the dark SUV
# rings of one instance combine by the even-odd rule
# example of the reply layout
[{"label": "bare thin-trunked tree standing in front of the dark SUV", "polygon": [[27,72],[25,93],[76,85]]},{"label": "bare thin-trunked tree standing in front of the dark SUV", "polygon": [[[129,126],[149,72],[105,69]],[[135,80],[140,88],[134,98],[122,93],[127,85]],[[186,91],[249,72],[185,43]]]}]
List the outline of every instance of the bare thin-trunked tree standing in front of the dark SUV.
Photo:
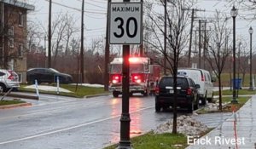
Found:
[{"label": "bare thin-trunked tree standing in front of the dark SUV", "polygon": [[[169,2],[169,1],[168,1]],[[177,134],[177,68],[182,62],[182,55],[188,43],[189,32],[186,31],[189,26],[189,11],[194,1],[180,0],[167,3],[167,26],[169,33],[166,36],[167,50],[163,48],[164,32],[164,15],[154,11],[153,4],[147,4],[147,13],[151,23],[148,23],[146,29],[151,32],[151,37],[148,39],[148,45],[156,52],[160,53],[167,61],[167,69],[173,76],[173,89],[174,89],[174,104],[173,104],[173,128],[172,133]],[[160,4],[165,6],[164,1]]]}]

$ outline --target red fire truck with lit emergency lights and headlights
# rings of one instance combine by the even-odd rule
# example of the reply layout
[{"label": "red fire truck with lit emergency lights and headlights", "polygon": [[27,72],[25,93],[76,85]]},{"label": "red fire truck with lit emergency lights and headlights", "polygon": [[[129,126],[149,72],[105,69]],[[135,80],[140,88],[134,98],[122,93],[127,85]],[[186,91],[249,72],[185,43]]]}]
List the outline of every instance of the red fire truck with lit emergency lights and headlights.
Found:
[{"label": "red fire truck with lit emergency lights and headlights", "polygon": [[[141,93],[144,96],[153,94],[155,84],[160,78],[160,66],[150,65],[148,57],[130,57],[130,95]],[[123,58],[114,58],[110,62],[109,91],[113,97],[122,94],[122,64]]]}]

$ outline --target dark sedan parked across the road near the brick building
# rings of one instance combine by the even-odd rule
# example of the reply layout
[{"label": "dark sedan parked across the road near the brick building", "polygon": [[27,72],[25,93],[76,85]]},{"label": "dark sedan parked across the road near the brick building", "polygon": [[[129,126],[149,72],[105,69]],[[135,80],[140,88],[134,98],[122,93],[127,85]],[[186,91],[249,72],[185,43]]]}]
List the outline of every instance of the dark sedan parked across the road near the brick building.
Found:
[{"label": "dark sedan parked across the road near the brick building", "polygon": [[27,83],[56,83],[59,77],[60,83],[72,83],[73,77],[66,73],[61,73],[53,68],[31,68],[26,72]]}]

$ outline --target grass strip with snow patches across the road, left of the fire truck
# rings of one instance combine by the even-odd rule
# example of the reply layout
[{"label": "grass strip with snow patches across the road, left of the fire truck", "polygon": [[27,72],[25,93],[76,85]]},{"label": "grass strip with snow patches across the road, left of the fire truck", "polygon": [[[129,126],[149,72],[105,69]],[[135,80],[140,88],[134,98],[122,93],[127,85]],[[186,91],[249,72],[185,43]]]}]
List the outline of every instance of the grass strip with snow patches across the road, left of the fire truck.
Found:
[{"label": "grass strip with snow patches across the road, left of the fire truck", "polygon": [[[26,89],[25,88],[26,86],[27,84],[20,84],[20,91],[33,92],[33,93],[36,92],[35,89]],[[56,85],[50,84],[50,86],[56,86]],[[108,91],[104,91],[103,88],[85,87],[81,85],[79,85],[78,88],[76,88],[76,85],[61,84],[60,87],[63,89],[72,91],[72,93],[60,92],[60,95],[66,95],[66,96],[72,96],[72,97],[78,97],[78,98],[82,98],[86,95],[99,95],[99,94],[109,93]],[[57,94],[55,91],[45,91],[45,90],[39,90],[39,93],[52,94],[52,95]]]}]

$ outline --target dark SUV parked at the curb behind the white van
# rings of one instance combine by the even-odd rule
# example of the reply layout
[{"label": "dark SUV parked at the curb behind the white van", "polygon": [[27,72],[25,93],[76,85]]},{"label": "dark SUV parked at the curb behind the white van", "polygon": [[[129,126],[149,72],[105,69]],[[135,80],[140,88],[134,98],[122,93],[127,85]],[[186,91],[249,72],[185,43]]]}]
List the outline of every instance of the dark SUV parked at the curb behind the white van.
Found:
[{"label": "dark SUV parked at the curb behind the white van", "polygon": [[[189,112],[197,109],[199,105],[197,89],[200,89],[200,85],[195,84],[190,77],[177,76],[177,106],[187,108]],[[173,106],[173,77],[161,77],[155,92],[155,112]]]}]

